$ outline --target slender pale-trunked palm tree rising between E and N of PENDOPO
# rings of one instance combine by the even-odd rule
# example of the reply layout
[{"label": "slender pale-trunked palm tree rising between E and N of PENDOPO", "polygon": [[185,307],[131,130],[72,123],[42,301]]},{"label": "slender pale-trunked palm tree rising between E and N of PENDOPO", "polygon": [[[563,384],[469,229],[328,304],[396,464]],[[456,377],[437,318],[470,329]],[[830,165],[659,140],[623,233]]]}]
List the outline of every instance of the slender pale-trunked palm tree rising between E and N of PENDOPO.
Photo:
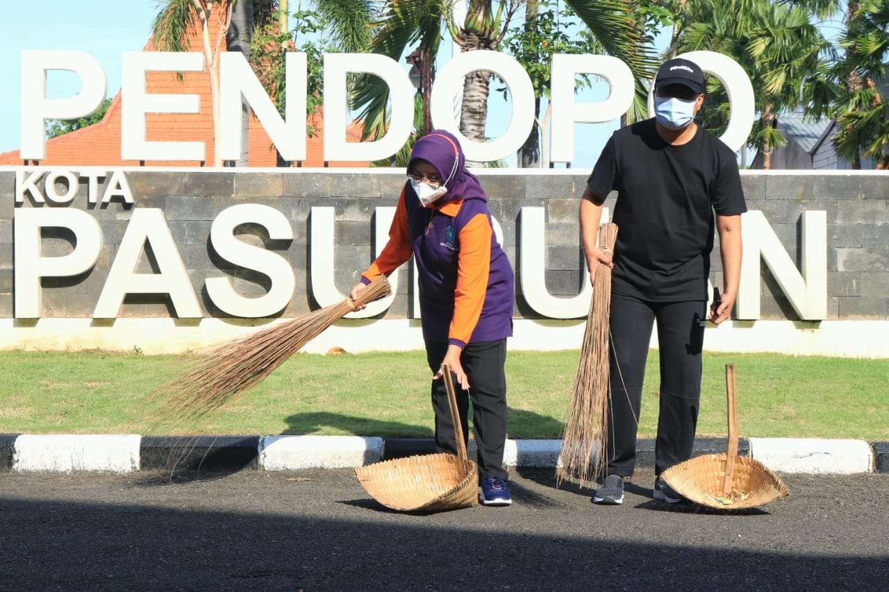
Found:
[{"label": "slender pale-trunked palm tree rising between E and N of PENDOPO", "polygon": [[[185,52],[188,31],[197,23],[201,26],[204,69],[210,76],[210,97],[213,121],[213,166],[221,166],[219,150],[215,149],[220,137],[220,74],[219,52],[222,41],[231,26],[232,11],[237,0],[161,0],[152,25],[152,43],[160,52]],[[220,27],[215,39],[210,38],[210,20],[219,19]]]}]

